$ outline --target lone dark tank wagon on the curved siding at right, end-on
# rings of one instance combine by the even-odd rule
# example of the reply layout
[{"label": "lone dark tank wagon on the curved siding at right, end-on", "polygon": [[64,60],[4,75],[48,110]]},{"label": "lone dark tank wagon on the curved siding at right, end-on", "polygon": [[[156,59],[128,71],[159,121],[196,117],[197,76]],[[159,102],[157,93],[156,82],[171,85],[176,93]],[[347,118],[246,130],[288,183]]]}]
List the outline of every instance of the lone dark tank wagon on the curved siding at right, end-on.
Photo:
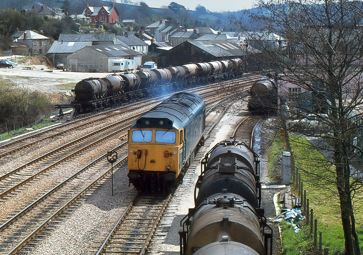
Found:
[{"label": "lone dark tank wagon on the curved siding at right, end-on", "polygon": [[273,80],[256,81],[250,88],[250,112],[274,112],[277,106],[277,84]]}]

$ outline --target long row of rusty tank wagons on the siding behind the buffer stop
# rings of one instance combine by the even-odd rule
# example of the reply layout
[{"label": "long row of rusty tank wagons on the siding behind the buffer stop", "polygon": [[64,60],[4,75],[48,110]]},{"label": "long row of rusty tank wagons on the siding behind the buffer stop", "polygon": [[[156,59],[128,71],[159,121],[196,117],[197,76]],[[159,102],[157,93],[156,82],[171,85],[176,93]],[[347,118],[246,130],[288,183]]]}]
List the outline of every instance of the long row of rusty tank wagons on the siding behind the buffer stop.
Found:
[{"label": "long row of rusty tank wagons on the siding behind the buffer stop", "polygon": [[161,91],[172,92],[202,82],[234,78],[242,74],[240,64],[241,59],[234,58],[125,72],[104,78],[87,78],[79,81],[72,90],[75,94],[72,105],[79,113],[118,105],[151,94],[160,94]]}]

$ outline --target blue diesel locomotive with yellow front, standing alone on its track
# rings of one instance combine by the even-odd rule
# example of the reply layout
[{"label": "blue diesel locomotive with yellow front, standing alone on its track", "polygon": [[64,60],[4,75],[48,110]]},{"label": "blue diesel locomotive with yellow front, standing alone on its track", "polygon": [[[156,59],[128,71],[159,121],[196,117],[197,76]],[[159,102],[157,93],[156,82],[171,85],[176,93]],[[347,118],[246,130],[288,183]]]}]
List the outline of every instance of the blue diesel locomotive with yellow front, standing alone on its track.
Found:
[{"label": "blue diesel locomotive with yellow front, standing alone on its track", "polygon": [[170,192],[203,144],[205,103],[176,93],[129,129],[128,177],[138,191]]}]

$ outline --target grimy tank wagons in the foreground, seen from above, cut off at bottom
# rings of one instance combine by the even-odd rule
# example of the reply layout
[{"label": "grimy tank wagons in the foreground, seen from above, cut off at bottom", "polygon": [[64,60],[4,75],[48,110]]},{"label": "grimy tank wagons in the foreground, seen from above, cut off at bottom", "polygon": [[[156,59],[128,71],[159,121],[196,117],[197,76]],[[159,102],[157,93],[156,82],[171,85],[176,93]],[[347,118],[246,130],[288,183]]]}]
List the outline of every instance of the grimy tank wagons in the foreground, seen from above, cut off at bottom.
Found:
[{"label": "grimy tank wagons in the foreground, seen from above, cut off at bottom", "polygon": [[268,246],[272,254],[258,174],[256,153],[238,139],[224,140],[207,153],[195,208],[180,221],[180,255],[267,255]]}]

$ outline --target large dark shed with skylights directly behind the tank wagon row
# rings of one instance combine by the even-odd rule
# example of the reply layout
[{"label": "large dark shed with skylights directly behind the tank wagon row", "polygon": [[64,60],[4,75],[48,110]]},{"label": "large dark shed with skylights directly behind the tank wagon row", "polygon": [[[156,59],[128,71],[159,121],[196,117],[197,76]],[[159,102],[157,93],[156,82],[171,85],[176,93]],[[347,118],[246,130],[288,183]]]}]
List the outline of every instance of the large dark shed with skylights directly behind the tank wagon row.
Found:
[{"label": "large dark shed with skylights directly behind the tank wagon row", "polygon": [[236,39],[185,41],[158,56],[158,67],[185,65],[243,57],[245,52]]}]

